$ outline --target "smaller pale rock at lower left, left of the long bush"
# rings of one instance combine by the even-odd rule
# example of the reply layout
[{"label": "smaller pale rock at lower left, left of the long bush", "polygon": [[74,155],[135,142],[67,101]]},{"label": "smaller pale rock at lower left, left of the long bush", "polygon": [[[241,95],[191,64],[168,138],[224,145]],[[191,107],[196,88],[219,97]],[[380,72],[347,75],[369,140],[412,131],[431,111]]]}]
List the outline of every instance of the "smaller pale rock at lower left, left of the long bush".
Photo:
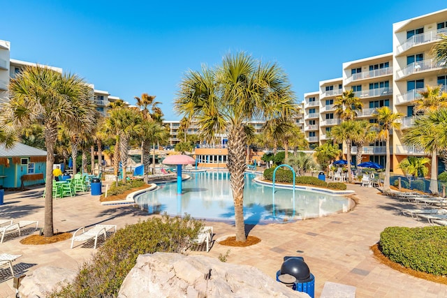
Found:
[{"label": "smaller pale rock at lower left, left of the long bush", "polygon": [[71,282],[78,274],[78,270],[59,267],[39,267],[25,276],[19,287],[22,298],[46,297],[46,292],[59,289],[65,282]]}]

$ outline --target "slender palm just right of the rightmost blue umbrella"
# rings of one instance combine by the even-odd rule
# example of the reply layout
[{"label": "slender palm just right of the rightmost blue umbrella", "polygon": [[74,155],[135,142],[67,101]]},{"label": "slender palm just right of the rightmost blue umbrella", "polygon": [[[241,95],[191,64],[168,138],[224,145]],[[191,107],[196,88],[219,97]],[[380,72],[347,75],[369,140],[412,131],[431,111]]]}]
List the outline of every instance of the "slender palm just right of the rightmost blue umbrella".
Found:
[{"label": "slender palm just right of the rightmost blue umbrella", "polygon": [[389,107],[379,107],[373,117],[376,117],[379,127],[378,138],[381,141],[385,141],[386,145],[386,161],[385,161],[385,178],[383,181],[383,192],[390,192],[390,131],[400,129],[400,119],[403,114],[393,113]]}]

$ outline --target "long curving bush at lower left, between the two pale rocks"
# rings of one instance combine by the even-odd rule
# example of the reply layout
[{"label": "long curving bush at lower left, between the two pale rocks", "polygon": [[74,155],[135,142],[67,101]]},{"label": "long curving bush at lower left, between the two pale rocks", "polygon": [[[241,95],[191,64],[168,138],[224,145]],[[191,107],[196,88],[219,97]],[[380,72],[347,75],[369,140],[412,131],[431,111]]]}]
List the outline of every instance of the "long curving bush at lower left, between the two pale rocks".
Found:
[{"label": "long curving bush at lower left, between the two pale rocks", "polygon": [[50,297],[117,297],[126,275],[145,253],[182,253],[203,226],[190,216],[149,218],[126,225],[85,262],[75,280]]}]

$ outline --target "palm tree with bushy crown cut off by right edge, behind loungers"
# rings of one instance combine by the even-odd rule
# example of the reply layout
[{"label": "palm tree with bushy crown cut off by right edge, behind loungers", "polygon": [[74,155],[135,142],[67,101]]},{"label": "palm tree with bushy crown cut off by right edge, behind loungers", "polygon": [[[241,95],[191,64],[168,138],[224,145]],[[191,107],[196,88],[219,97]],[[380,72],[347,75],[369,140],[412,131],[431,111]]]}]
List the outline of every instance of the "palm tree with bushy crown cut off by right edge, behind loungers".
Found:
[{"label": "palm tree with bushy crown cut off by right edge, behind loungers", "polygon": [[417,117],[414,126],[407,129],[402,140],[432,154],[430,171],[430,191],[438,193],[437,153],[447,149],[447,108],[442,107]]}]

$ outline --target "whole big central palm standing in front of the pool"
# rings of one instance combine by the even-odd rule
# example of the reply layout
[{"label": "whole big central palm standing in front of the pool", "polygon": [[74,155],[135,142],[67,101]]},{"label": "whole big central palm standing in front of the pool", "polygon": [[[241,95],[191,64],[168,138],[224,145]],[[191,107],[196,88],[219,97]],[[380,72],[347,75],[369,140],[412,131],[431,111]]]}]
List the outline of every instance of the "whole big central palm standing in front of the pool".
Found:
[{"label": "whole big central palm standing in front of the pool", "polygon": [[246,241],[244,226],[244,171],[247,135],[251,119],[282,119],[295,115],[295,103],[287,76],[277,64],[265,64],[240,52],[223,57],[217,69],[190,70],[175,99],[180,114],[196,119],[205,140],[228,131],[228,170],[235,204],[236,241]]}]

